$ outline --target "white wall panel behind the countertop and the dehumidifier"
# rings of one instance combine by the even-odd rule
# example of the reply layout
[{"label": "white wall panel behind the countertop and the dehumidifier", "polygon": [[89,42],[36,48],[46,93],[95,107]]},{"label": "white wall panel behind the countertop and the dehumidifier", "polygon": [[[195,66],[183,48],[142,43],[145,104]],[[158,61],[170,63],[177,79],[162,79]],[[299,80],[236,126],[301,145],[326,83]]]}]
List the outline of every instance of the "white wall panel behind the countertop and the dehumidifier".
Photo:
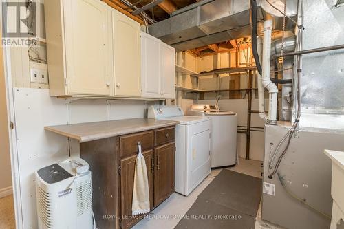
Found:
[{"label": "white wall panel behind the countertop and the dehumidifier", "polygon": [[69,102],[50,97],[48,89],[14,88],[23,228],[37,228],[34,171],[69,156],[67,138],[45,131],[45,126],[144,118],[147,106],[154,103],[143,100]]}]

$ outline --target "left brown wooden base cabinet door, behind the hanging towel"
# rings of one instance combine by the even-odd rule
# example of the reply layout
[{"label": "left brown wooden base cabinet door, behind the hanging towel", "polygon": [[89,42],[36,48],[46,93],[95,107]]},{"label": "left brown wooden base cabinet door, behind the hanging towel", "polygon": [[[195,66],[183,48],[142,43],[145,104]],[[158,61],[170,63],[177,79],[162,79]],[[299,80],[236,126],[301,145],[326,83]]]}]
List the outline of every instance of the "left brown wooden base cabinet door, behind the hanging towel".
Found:
[{"label": "left brown wooden base cabinet door, behind the hanging towel", "polygon": [[[142,153],[147,166],[147,174],[149,181],[149,201],[151,209],[153,209],[153,151],[146,151]],[[131,217],[131,206],[133,202],[133,179],[135,175],[136,156],[127,157],[120,160],[120,216],[122,228],[131,228],[144,215],[136,215]]]}]

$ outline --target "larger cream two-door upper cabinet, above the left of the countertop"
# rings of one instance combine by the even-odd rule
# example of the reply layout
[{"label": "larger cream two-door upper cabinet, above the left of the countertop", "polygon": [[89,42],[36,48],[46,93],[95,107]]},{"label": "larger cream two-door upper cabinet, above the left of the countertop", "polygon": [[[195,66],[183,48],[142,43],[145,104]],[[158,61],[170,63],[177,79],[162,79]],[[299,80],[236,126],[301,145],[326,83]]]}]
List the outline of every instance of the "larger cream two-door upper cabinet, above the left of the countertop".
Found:
[{"label": "larger cream two-door upper cabinet, above the left of the countertop", "polygon": [[139,23],[99,0],[44,5],[51,96],[141,96]]}]

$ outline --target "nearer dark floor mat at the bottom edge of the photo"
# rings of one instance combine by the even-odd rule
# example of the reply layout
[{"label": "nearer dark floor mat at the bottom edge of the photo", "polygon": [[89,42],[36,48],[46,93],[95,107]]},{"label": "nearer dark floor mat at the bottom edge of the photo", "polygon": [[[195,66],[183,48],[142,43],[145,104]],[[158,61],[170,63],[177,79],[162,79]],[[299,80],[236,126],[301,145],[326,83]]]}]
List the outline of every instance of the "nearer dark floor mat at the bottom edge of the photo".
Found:
[{"label": "nearer dark floor mat at the bottom edge of the photo", "polygon": [[[204,219],[200,219],[203,217]],[[225,218],[227,217],[227,218]],[[197,199],[175,229],[254,229],[255,217],[214,203]]]}]

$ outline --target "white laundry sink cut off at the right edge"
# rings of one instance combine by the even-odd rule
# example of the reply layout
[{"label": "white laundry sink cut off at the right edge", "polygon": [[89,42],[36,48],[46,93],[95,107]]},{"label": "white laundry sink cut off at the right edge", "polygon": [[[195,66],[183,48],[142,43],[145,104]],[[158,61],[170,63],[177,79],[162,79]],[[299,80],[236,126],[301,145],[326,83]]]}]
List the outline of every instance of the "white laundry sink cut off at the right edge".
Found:
[{"label": "white laundry sink cut off at the right edge", "polygon": [[331,195],[333,198],[331,229],[344,220],[344,152],[330,151],[324,153],[332,160]]}]

